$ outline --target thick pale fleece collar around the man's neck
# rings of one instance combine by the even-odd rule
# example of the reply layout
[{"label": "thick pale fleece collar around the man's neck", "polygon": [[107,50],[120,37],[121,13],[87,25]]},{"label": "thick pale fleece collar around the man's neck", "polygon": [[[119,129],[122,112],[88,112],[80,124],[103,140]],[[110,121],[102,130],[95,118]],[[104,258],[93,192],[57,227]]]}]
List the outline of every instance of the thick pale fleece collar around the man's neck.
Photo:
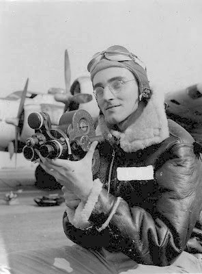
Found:
[{"label": "thick pale fleece collar around the man's neck", "polygon": [[167,116],[164,110],[164,96],[153,92],[141,116],[131,123],[124,132],[109,129],[101,114],[96,135],[104,136],[111,145],[115,136],[125,152],[135,152],[150,145],[158,144],[169,137]]}]

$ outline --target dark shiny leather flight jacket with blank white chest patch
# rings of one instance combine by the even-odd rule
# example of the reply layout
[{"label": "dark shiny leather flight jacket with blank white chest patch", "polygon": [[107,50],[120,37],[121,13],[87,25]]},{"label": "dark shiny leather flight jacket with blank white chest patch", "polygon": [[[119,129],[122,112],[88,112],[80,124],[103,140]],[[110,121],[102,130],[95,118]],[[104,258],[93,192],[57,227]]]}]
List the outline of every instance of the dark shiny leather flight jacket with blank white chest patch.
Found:
[{"label": "dark shiny leather flight jacket with blank white chest patch", "polygon": [[[89,218],[89,229],[77,229],[64,213],[63,229],[70,240],[89,250],[121,251],[137,263],[156,266],[172,264],[182,251],[200,251],[201,227],[194,227],[202,210],[200,149],[172,120],[169,132],[160,144],[133,153],[107,142],[99,146],[97,177],[103,183],[102,192]],[[154,179],[117,179],[117,167],[149,165],[154,168]],[[99,232],[117,197],[123,199],[108,227]]]}]

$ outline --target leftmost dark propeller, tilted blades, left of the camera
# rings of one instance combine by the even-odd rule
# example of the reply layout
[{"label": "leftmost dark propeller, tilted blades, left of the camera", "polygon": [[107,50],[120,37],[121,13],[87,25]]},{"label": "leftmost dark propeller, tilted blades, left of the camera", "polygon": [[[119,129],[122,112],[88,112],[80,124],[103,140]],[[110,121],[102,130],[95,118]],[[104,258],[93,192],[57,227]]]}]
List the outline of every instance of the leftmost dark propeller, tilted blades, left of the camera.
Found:
[{"label": "leftmost dark propeller, tilted blades, left of the camera", "polygon": [[15,153],[15,167],[16,167],[16,163],[17,163],[18,136],[19,136],[19,133],[20,133],[19,121],[20,121],[20,115],[23,112],[23,108],[24,108],[24,104],[25,104],[28,82],[29,82],[29,78],[27,78],[25,88],[23,90],[22,97],[20,99],[20,105],[19,105],[19,108],[18,108],[17,116],[5,119],[6,123],[14,125],[15,129],[16,129],[15,130],[15,145],[13,145],[13,142],[10,142],[10,144],[8,145],[8,151],[10,153],[10,159],[12,158],[12,155]]}]

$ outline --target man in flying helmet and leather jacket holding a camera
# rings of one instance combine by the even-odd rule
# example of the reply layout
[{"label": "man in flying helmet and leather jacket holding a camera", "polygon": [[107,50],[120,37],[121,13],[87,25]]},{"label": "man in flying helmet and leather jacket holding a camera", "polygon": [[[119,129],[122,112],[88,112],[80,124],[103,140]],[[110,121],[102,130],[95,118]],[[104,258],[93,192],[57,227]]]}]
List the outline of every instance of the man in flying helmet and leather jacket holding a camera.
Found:
[{"label": "man in flying helmet and leather jacket holding a camera", "polygon": [[[104,142],[93,142],[77,162],[40,156],[63,185],[63,228],[76,243],[55,256],[72,273],[200,273],[199,254],[185,252],[202,209],[202,163],[192,136],[167,120],[162,94],[124,47],[97,53],[88,70]],[[100,170],[93,177],[96,146]],[[36,269],[44,270],[42,254],[46,272],[56,271],[44,251],[34,256]],[[65,265],[55,273],[71,273]]]}]

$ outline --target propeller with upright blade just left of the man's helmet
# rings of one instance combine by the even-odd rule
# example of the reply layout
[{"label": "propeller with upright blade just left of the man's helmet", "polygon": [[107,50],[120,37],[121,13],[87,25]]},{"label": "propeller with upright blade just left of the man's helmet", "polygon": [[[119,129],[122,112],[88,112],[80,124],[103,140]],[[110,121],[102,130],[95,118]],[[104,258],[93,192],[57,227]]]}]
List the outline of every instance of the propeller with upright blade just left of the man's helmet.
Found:
[{"label": "propeller with upright blade just left of the man's helmet", "polygon": [[72,95],[70,92],[70,82],[71,82],[71,71],[70,71],[70,58],[68,51],[65,51],[65,93],[56,93],[55,101],[59,101],[66,104],[66,110],[70,108],[70,103],[88,103],[93,99],[93,97],[88,93],[80,93],[77,95]]}]

